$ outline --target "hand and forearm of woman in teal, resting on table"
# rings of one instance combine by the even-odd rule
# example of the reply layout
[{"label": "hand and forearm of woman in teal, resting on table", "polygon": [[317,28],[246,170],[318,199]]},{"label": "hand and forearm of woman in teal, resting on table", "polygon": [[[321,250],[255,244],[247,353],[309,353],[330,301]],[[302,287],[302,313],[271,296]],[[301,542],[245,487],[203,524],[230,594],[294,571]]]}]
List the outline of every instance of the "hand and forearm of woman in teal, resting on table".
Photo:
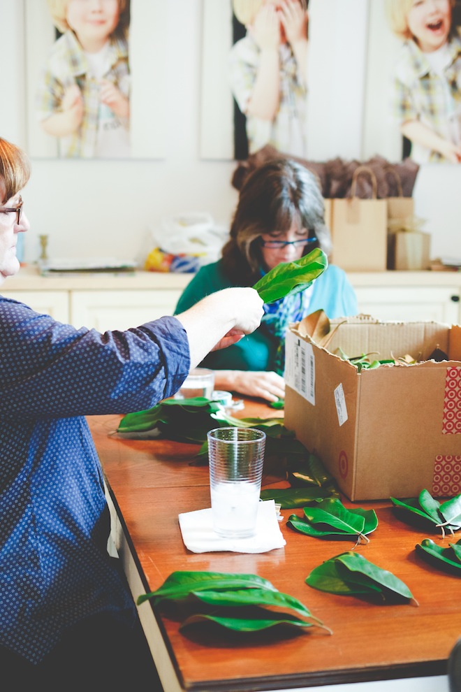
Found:
[{"label": "hand and forearm of woman in teal, resting on table", "polygon": [[265,401],[277,401],[285,397],[284,378],[266,370],[214,370],[214,389],[235,391]]}]

